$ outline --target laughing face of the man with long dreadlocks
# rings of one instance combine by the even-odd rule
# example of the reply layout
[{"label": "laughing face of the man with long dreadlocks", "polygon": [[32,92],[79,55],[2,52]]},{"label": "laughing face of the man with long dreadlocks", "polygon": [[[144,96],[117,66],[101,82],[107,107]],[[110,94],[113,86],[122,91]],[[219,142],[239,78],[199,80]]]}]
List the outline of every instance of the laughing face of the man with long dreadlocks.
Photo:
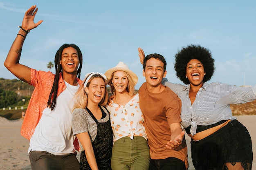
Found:
[{"label": "laughing face of the man with long dreadlocks", "polygon": [[77,68],[79,66],[79,57],[76,49],[67,47],[63,49],[60,61],[62,73],[77,75]]}]

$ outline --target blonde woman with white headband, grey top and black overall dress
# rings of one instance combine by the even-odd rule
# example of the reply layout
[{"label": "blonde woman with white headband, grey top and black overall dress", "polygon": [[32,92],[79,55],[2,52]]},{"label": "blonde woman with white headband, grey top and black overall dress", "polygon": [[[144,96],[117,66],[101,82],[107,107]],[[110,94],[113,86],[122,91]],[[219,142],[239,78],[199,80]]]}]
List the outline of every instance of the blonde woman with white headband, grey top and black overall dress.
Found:
[{"label": "blonde woman with white headband, grey top and black overall dress", "polygon": [[113,145],[110,117],[106,106],[106,76],[91,72],[74,95],[73,134],[79,139],[80,170],[111,170]]}]

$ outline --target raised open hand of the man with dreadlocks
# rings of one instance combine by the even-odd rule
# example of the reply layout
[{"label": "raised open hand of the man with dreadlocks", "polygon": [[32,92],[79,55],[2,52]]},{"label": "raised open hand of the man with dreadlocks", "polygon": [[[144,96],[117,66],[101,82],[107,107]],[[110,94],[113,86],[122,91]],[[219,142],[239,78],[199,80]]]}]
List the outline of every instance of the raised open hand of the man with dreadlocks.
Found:
[{"label": "raised open hand of the man with dreadlocks", "polygon": [[36,5],[33,5],[26,11],[25,16],[22,20],[22,29],[25,29],[25,30],[34,29],[43,22],[43,20],[40,20],[36,23],[34,22],[34,18],[36,16],[37,10],[38,8],[36,8]]}]

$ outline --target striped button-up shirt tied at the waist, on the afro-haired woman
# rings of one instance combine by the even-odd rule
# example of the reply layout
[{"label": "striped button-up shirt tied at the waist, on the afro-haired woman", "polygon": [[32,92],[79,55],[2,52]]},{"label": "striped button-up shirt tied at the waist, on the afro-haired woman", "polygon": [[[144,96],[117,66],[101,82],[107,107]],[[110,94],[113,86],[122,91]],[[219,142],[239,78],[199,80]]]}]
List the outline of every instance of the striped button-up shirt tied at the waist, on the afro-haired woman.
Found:
[{"label": "striped button-up shirt tied at the waist, on the afro-haired woman", "polygon": [[193,105],[189,99],[190,85],[174,84],[165,78],[162,83],[180,97],[182,101],[182,126],[191,125],[191,135],[196,134],[197,125],[207,126],[221,120],[234,120],[230,104],[244,104],[256,99],[256,85],[238,87],[220,82],[207,82],[198,91]]}]

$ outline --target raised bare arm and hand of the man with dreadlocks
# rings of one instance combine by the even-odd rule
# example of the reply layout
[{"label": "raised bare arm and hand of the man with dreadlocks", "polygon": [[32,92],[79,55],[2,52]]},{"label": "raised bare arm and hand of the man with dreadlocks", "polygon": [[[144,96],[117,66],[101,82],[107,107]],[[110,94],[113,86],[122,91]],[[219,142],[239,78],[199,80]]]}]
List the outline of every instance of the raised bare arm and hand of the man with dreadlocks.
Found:
[{"label": "raised bare arm and hand of the man with dreadlocks", "polygon": [[15,75],[23,82],[27,83],[31,83],[30,68],[28,66],[20,64],[19,61],[22,46],[28,33],[24,30],[34,29],[43,22],[43,20],[40,20],[37,23],[34,23],[34,18],[37,10],[38,8],[36,8],[36,5],[34,5],[26,11],[25,16],[22,20],[22,29],[20,29],[20,31],[18,32],[18,35],[15,38],[13,44],[11,45],[9,53],[4,61],[4,66],[11,73],[13,73],[13,75]]}]

